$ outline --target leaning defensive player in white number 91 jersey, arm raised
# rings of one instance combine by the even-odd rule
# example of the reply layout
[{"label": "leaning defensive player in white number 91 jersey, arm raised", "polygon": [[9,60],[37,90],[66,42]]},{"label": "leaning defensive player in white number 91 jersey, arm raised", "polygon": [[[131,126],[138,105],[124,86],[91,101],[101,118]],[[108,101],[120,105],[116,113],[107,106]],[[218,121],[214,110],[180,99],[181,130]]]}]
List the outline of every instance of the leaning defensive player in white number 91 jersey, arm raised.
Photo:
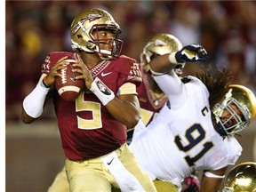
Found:
[{"label": "leaning defensive player in white number 91 jersey, arm raised", "polygon": [[168,101],[146,129],[138,124],[130,147],[152,180],[173,184],[157,187],[155,182],[157,191],[180,191],[191,172],[203,170],[201,192],[215,192],[228,165],[241,156],[234,136],[255,116],[254,94],[243,85],[230,85],[232,76],[225,69],[182,79],[173,70],[177,63],[206,58],[202,46],[190,44],[150,63]]}]

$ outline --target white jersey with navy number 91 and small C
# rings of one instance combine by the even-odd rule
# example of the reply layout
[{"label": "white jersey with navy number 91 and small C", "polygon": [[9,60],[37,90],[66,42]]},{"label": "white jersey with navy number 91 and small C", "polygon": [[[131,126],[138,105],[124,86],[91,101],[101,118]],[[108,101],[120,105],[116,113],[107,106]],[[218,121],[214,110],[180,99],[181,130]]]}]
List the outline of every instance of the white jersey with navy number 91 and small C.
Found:
[{"label": "white jersey with navy number 91 and small C", "polygon": [[196,77],[183,84],[178,76],[155,76],[167,95],[164,105],[146,129],[138,128],[130,145],[151,179],[180,183],[195,170],[218,170],[236,164],[242,147],[235,137],[223,139],[212,125],[209,92]]}]

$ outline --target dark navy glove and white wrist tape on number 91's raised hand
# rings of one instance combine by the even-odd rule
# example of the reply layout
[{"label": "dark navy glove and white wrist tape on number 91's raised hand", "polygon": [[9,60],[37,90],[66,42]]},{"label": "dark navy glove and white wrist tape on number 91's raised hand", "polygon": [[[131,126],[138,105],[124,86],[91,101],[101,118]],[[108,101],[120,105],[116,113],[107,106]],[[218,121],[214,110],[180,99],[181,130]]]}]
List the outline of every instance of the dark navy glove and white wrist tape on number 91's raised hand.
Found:
[{"label": "dark navy glove and white wrist tape on number 91's raised hand", "polygon": [[178,52],[172,52],[169,56],[169,60],[172,62],[172,64],[207,61],[208,54],[202,45],[189,44],[187,46],[184,46]]}]

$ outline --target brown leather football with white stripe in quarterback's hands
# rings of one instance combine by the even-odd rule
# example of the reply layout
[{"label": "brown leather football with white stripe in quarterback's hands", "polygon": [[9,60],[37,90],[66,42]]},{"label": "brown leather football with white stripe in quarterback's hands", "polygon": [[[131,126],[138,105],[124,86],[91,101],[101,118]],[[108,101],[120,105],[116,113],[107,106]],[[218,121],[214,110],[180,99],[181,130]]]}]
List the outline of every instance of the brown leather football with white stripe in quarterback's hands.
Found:
[{"label": "brown leather football with white stripe in quarterback's hands", "polygon": [[75,68],[72,66],[72,63],[75,63],[76,60],[67,59],[65,61],[69,64],[67,65],[66,70],[61,69],[58,71],[61,74],[61,77],[57,76],[55,78],[54,85],[63,100],[74,101],[80,94],[81,90],[83,90],[84,80],[76,79],[77,75],[72,71],[72,69]]}]

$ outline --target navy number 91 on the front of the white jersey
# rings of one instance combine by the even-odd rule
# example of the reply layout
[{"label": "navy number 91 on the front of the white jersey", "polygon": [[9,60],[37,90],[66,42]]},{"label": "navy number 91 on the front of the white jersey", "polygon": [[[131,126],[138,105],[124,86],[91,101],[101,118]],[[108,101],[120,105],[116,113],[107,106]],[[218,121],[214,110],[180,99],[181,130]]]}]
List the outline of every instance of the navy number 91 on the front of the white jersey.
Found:
[{"label": "navy number 91 on the front of the white jersey", "polygon": [[[193,137],[193,132],[198,132],[198,136],[197,137]],[[201,126],[201,124],[193,124],[191,127],[188,128],[188,130],[186,131],[186,138],[188,140],[188,145],[184,146],[181,143],[181,139],[180,136],[177,135],[175,137],[175,143],[177,145],[178,148],[180,148],[181,151],[187,152],[188,150],[190,150],[191,148],[194,148],[197,146],[197,144],[203,142],[204,137],[205,137],[205,131],[203,129],[203,127]],[[185,156],[185,160],[188,163],[189,166],[193,166],[195,165],[196,161],[198,161],[202,156],[204,156],[204,154],[210,150],[210,148],[213,147],[213,143],[211,141],[208,142],[204,142],[202,143],[203,149],[197,153],[196,156]]]}]

